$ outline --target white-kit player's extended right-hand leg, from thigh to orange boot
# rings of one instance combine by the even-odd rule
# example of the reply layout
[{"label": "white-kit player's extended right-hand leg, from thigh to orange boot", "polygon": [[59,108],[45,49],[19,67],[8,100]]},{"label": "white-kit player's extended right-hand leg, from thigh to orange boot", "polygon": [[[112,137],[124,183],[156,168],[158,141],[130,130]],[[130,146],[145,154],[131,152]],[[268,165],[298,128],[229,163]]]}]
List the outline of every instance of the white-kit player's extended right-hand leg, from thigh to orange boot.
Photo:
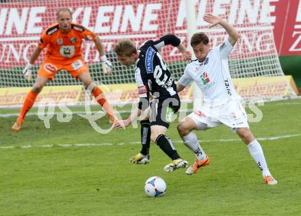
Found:
[{"label": "white-kit player's extended right-hand leg, from thigh to orange boot", "polygon": [[241,140],[247,144],[252,158],[255,160],[255,163],[257,163],[259,169],[262,171],[265,183],[270,185],[277,184],[277,181],[272,177],[272,174],[267,167],[263,149],[260,143],[254,138],[254,135],[252,134],[250,128],[237,128],[236,132],[240,136]]}]

